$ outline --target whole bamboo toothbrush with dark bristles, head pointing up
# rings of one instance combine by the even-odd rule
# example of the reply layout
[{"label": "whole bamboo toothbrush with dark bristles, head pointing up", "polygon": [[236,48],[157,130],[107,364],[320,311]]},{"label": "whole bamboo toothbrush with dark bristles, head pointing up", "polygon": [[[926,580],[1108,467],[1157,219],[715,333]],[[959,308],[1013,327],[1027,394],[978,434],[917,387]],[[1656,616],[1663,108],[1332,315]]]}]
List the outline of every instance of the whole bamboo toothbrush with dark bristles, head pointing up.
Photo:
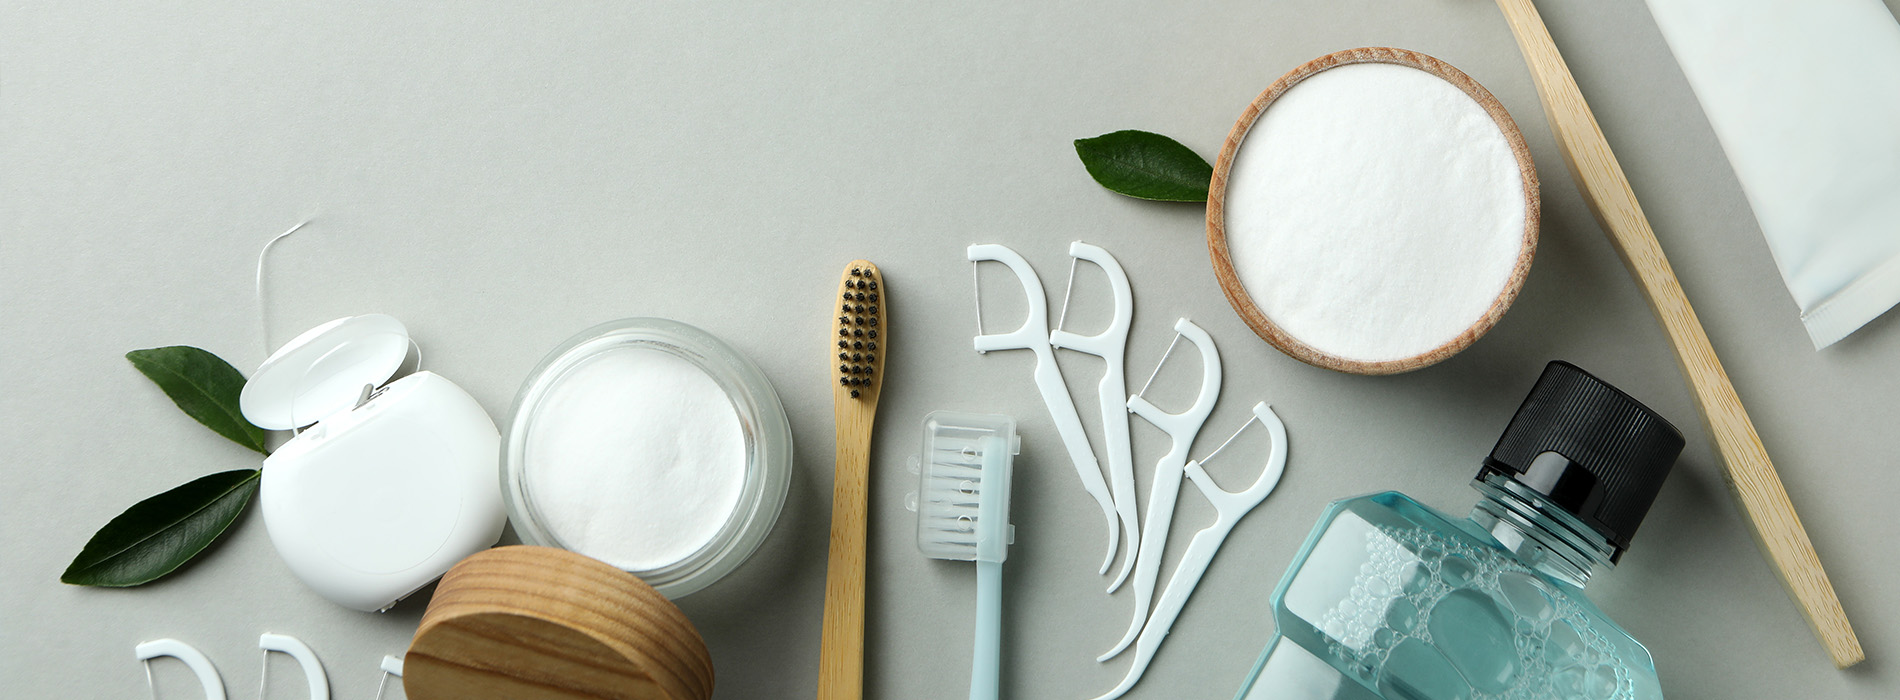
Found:
[{"label": "whole bamboo toothbrush with dark bristles, head pointing up", "polygon": [[884,388],[889,323],[884,274],[851,261],[832,297],[832,415],[838,464],[832,481],[830,557],[825,569],[825,635],[819,647],[819,700],[864,694],[864,498],[870,491],[870,424]]}]

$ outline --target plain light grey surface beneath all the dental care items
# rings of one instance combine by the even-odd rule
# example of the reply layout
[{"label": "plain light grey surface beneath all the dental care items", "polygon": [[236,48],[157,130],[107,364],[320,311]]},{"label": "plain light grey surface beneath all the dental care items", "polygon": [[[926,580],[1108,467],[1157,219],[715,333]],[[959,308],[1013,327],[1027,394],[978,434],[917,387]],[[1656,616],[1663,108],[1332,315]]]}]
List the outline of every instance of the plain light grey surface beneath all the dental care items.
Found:
[{"label": "plain light grey surface beneath all the dental care items", "polygon": [[[1060,299],[1077,238],[1132,278],[1130,384],[1180,316],[1220,344],[1224,398],[1193,455],[1258,399],[1292,434],[1286,479],[1235,529],[1130,698],[1231,696],[1324,502],[1398,489],[1469,508],[1478,458],[1554,358],[1689,438],[1636,546],[1590,584],[1649,645],[1672,698],[1900,696],[1900,599],[1881,584],[1900,574],[1889,508],[1900,321],[1814,352],[1647,10],[1541,6],[1856,622],[1860,668],[1828,664],[1748,538],[1662,333],[1579,200],[1488,2],[59,2],[0,10],[0,694],[146,696],[131,647],[179,637],[251,696],[256,635],[279,632],[315,647],[334,696],[357,700],[372,696],[382,654],[407,645],[420,599],[388,614],[319,599],[277,561],[255,508],[158,584],[57,584],[125,506],[256,462],[122,354],[196,344],[255,369],[258,245],[308,217],[272,253],[270,339],[393,314],[426,367],[504,424],[543,352],[614,318],[705,327],[766,369],[798,443],[785,514],[745,567],[680,601],[720,698],[802,698],[815,685],[832,466],[825,308],[853,257],[884,266],[893,299],[866,694],[965,692],[975,571],[923,559],[902,508],[904,460],[933,409],[1011,413],[1026,436],[1005,694],[1079,700],[1121,677],[1127,656],[1094,656],[1132,595],[1100,593],[1100,515],[1030,386],[1032,360],[969,350],[963,247],[1015,247]],[[1516,116],[1543,181],[1541,245],[1516,306],[1465,354],[1383,379],[1260,342],[1214,283],[1201,207],[1104,192],[1070,146],[1140,127],[1212,160],[1260,89],[1357,46],[1469,72]],[[1011,285],[984,270],[994,327],[1020,310]],[[1100,272],[1083,266],[1075,295],[1070,327],[1102,323]],[[1100,361],[1062,354],[1062,365],[1092,417]],[[1178,409],[1193,377],[1195,360],[1170,361],[1151,396]],[[1260,447],[1237,445],[1212,472],[1252,479],[1260,462],[1246,455]],[[1134,420],[1134,449],[1146,495],[1165,438]],[[1210,519],[1184,491],[1163,573]],[[298,696],[294,664],[270,664],[270,696]],[[162,696],[196,696],[182,666],[154,671]]]}]

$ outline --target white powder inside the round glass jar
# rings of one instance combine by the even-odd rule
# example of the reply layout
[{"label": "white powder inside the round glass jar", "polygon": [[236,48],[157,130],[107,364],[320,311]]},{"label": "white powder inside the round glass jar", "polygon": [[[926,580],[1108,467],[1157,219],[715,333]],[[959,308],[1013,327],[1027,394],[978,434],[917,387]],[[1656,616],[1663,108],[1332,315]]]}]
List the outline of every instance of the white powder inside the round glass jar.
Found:
[{"label": "white powder inside the round glass jar", "polygon": [[705,548],[739,504],[745,466],[726,390],[652,348],[606,350],[562,373],[534,409],[524,460],[540,523],[625,571]]}]

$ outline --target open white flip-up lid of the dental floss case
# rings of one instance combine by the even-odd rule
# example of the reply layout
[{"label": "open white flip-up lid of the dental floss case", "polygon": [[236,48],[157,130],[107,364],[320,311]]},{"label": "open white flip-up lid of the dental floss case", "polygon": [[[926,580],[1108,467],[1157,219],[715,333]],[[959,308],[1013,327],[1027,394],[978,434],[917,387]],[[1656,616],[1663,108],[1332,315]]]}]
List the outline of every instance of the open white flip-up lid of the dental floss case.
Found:
[{"label": "open white flip-up lid of the dental floss case", "polygon": [[363,386],[382,386],[407,356],[408,329],[393,316],[338,318],[272,352],[238,407],[258,428],[302,428],[361,403]]}]

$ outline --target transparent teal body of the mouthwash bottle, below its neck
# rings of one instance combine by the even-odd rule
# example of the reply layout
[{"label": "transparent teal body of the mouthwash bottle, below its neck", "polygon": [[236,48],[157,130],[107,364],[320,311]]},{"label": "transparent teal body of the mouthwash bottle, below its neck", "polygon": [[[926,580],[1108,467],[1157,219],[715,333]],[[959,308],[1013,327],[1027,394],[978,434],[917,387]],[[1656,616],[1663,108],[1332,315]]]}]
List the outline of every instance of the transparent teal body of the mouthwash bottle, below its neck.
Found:
[{"label": "transparent teal body of the mouthwash bottle, below its neck", "polygon": [[1469,681],[1488,696],[1569,696],[1558,687],[1575,677],[1657,689],[1649,652],[1581,588],[1400,493],[1328,506],[1273,609],[1281,635],[1372,689]]}]

